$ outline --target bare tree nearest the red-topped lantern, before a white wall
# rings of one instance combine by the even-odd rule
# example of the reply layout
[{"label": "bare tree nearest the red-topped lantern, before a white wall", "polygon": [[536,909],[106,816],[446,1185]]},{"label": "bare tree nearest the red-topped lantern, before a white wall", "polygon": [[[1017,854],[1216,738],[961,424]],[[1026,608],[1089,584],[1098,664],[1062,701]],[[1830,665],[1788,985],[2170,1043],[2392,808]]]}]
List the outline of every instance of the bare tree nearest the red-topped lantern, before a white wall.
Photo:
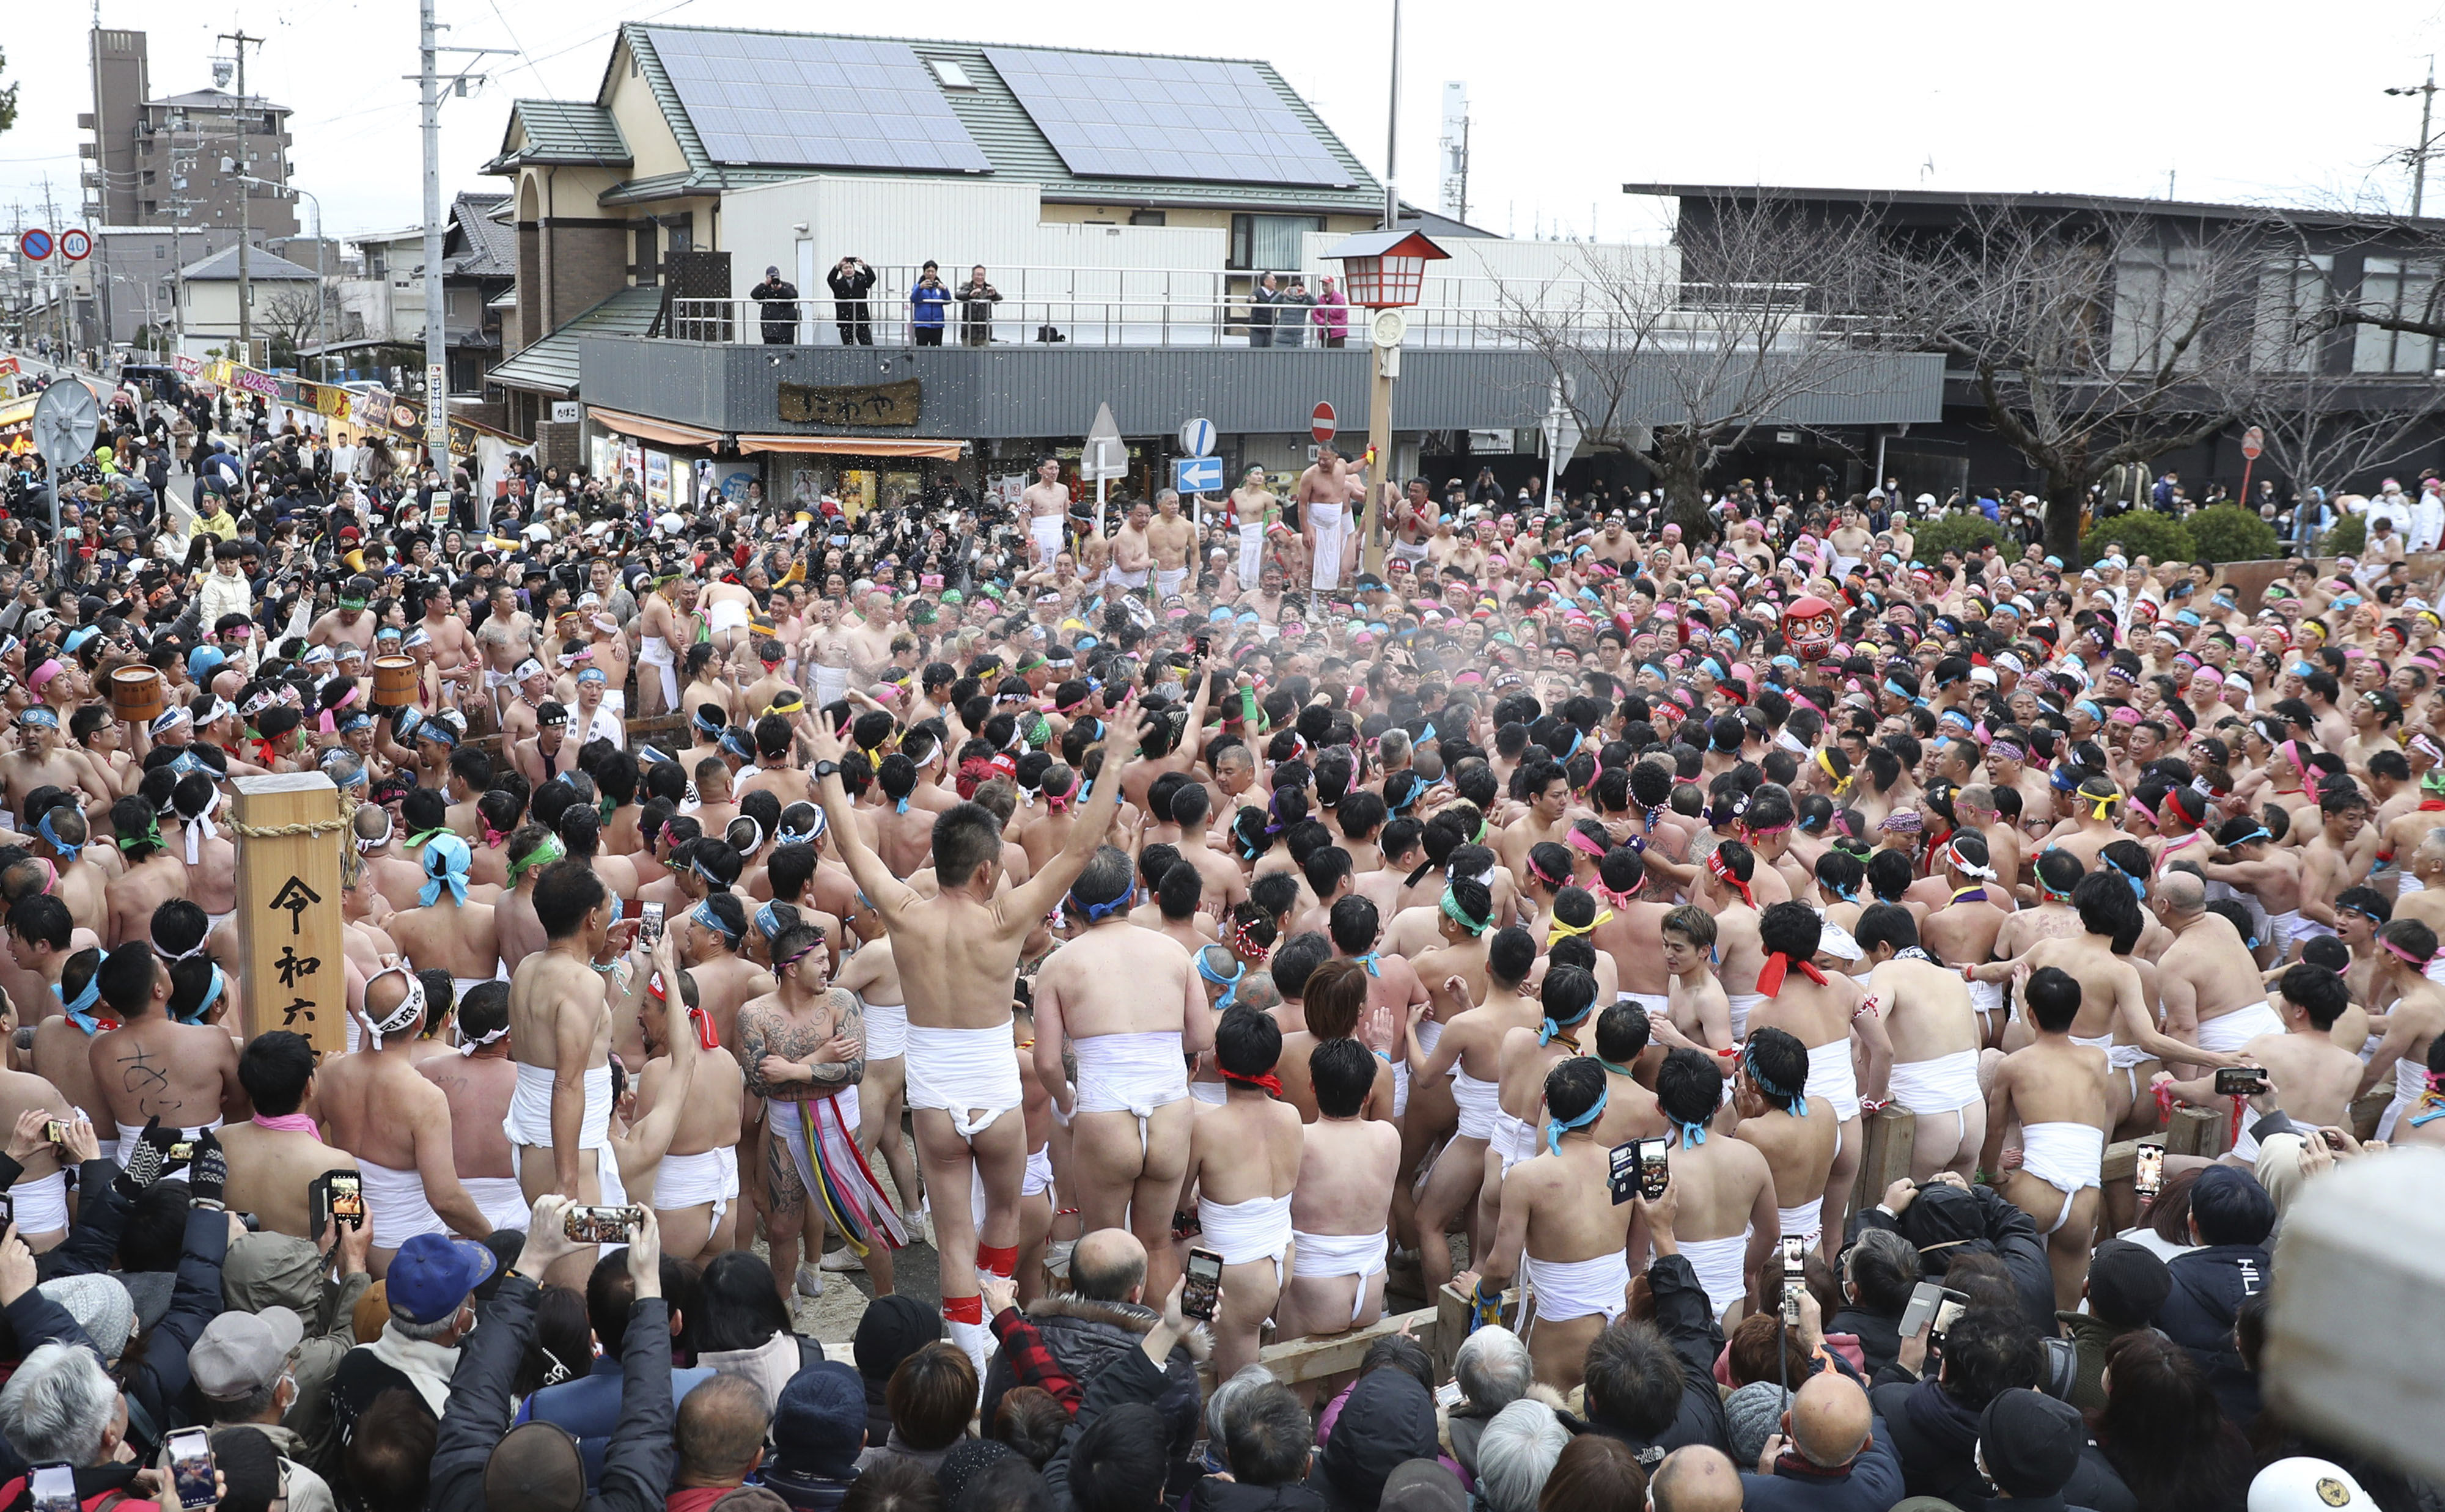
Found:
[{"label": "bare tree nearest the red-topped lantern, before a white wall", "polygon": [[1856,333],[1866,220],[1807,223],[1770,193],[1687,210],[1672,247],[1582,247],[1565,274],[1504,284],[1499,301],[1582,443],[1645,460],[1672,519],[1712,536],[1707,475],[1751,431],[1807,428],[1814,401],[1888,394],[1907,367]]}]

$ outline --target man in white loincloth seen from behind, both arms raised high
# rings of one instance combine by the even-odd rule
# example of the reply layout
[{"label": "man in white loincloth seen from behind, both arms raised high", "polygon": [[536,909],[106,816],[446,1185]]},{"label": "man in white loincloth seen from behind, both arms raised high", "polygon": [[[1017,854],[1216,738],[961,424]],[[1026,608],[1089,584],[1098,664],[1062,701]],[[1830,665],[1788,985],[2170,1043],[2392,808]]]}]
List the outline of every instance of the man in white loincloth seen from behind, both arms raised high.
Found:
[{"label": "man in white loincloth seen from behind, both arms raised high", "polygon": [[[1010,988],[1027,935],[1068,893],[1112,825],[1120,763],[1137,751],[1137,710],[1125,697],[1105,719],[1103,773],[1068,842],[1032,878],[995,893],[1002,825],[993,810],[961,802],[934,820],[936,893],[919,895],[858,837],[858,815],[841,785],[841,736],[817,719],[814,783],[839,839],[841,859],[883,915],[907,993],[907,1099],[917,1123],[917,1160],[929,1191],[968,1191],[985,1182],[983,1233],[971,1233],[961,1201],[934,1204],[941,1253],[941,1316],[971,1358],[985,1355],[985,1311],[978,1267],[1017,1270],[1020,1179],[1027,1172],[1027,1130],[1017,1111],[1020,1059],[1010,1037]],[[973,1240],[973,1248],[971,1248]]]}]

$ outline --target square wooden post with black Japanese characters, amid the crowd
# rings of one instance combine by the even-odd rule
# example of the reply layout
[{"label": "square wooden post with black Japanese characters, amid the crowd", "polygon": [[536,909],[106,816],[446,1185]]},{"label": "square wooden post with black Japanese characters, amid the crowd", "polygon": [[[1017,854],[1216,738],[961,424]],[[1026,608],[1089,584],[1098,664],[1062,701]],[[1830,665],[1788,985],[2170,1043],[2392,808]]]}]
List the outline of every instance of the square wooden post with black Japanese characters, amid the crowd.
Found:
[{"label": "square wooden post with black Japanese characters, amid the crowd", "polygon": [[340,847],[347,810],[318,771],[235,778],[237,942],[247,1037],[296,1030],[318,1052],[347,1047]]}]

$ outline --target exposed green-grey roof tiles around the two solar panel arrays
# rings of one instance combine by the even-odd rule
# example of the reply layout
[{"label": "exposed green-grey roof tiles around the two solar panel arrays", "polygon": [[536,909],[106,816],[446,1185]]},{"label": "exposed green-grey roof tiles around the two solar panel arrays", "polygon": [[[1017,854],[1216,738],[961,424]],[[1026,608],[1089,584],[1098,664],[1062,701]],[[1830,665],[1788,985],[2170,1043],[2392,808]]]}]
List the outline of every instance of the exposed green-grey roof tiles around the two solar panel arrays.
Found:
[{"label": "exposed green-grey roof tiles around the two solar panel arrays", "polygon": [[[648,83],[655,100],[663,108],[663,117],[670,122],[672,137],[680,142],[680,154],[687,159],[687,169],[677,174],[653,174],[648,179],[631,179],[604,191],[604,206],[633,206],[658,198],[682,198],[694,193],[719,193],[724,188],[746,188],[753,183],[778,183],[785,179],[802,179],[809,171],[824,174],[883,174],[880,169],[839,169],[829,164],[807,164],[804,169],[773,169],[773,166],[729,166],[716,161],[704,142],[697,137],[694,125],[687,117],[687,108],[680,103],[680,91],[672,88],[670,76],[663,71],[663,61],[653,51],[653,29],[685,29],[655,22],[645,27],[641,22],[621,24],[621,46],[636,59],[638,76]],[[699,29],[729,29],[746,37],[756,37],[753,27],[699,27]],[[1210,183],[1210,181],[1166,181],[1166,179],[1083,179],[1071,174],[1054,152],[1054,144],[1044,137],[1037,122],[1020,105],[1020,98],[1010,91],[993,64],[985,59],[988,44],[983,42],[939,42],[907,37],[907,42],[919,59],[932,64],[944,59],[958,64],[961,71],[976,83],[973,91],[944,91],[944,100],[951,103],[951,113],[958,115],[968,137],[985,152],[993,161],[995,174],[1010,179],[1027,179],[1044,183],[1046,198],[1061,203],[1110,203],[1110,206],[1210,206],[1210,208],[1235,208],[1235,210],[1286,210],[1286,213],[1335,213],[1335,215],[1369,215],[1381,213],[1384,188],[1377,183],[1374,174],[1357,159],[1350,147],[1333,135],[1333,127],[1315,115],[1315,110],[1298,98],[1298,91],[1281,78],[1281,73],[1259,59],[1220,59],[1220,61],[1245,61],[1281,95],[1281,103],[1306,125],[1315,142],[1330,154],[1350,176],[1350,183],[1337,186],[1313,186],[1313,183]],[[1015,49],[1027,51],[1027,49]],[[1078,49],[1039,49],[1039,51],[1078,51]],[[1127,54],[1127,56],[1161,56],[1161,54]],[[619,61],[619,46],[614,59],[606,64],[604,86],[597,91],[597,105],[572,105],[567,100],[518,100],[518,117],[528,122],[528,135],[538,130],[533,113],[535,105],[572,105],[577,110],[604,110],[599,100],[609,98],[609,66]],[[531,154],[504,152],[487,171],[504,174],[513,171],[518,161],[550,161]],[[565,159],[562,159],[565,161]],[[601,161],[601,159],[587,159]],[[626,157],[621,159],[626,161]],[[910,176],[907,169],[890,171],[888,176]]]}]

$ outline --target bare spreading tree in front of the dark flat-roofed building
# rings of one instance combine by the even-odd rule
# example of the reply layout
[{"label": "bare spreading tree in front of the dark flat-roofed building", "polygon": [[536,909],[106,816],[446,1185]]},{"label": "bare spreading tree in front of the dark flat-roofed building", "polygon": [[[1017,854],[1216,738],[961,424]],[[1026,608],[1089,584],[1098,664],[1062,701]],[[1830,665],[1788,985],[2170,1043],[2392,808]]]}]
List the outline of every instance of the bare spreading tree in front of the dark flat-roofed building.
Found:
[{"label": "bare spreading tree in front of the dark flat-roofed building", "polygon": [[2078,560],[2090,484],[2230,423],[2218,379],[2247,367],[2252,240],[1980,206],[1888,245],[1875,303],[1902,340],[1968,372],[1995,433],[2044,475],[2046,550]]}]

